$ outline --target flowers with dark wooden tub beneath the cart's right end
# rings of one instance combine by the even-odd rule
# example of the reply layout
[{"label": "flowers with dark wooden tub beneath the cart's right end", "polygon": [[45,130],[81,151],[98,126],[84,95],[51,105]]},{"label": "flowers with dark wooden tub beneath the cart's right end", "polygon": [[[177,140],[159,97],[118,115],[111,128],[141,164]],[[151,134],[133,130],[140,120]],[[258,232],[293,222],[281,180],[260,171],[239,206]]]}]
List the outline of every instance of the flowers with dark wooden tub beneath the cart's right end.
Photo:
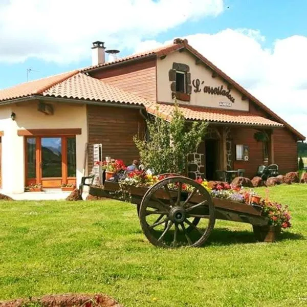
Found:
[{"label": "flowers with dark wooden tub beneath the cart's right end", "polygon": [[259,241],[274,242],[281,228],[286,229],[291,227],[291,215],[288,206],[271,202],[269,200],[262,200],[262,215],[269,218],[269,225],[256,226],[253,225],[254,234]]}]

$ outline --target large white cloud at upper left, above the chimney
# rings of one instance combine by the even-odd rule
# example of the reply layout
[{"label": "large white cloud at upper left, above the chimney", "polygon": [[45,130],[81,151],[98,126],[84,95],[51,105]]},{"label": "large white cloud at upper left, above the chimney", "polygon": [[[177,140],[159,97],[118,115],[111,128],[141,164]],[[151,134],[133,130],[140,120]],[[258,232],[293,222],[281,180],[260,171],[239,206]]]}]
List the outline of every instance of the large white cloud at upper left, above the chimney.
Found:
[{"label": "large white cloud at upper left, above the chimney", "polygon": [[0,61],[71,62],[90,43],[133,48],[187,20],[216,16],[223,0],[0,0]]}]

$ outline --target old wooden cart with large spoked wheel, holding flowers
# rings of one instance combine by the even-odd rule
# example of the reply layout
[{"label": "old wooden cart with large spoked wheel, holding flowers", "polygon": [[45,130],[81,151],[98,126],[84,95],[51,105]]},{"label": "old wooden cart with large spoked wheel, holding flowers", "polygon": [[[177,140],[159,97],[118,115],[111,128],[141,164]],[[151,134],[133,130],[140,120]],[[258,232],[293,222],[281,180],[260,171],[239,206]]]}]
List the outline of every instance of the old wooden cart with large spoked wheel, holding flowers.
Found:
[{"label": "old wooden cart with large spoked wheel, holding flowers", "polygon": [[[191,191],[183,189],[189,185]],[[105,181],[103,189],[90,187],[90,193],[121,199],[118,183]],[[257,226],[268,225],[260,206],[212,198],[209,192],[192,179],[173,176],[148,187],[129,187],[131,203],[137,205],[142,230],[155,246],[199,247],[208,239],[216,218]],[[127,195],[126,195],[127,196]]]}]

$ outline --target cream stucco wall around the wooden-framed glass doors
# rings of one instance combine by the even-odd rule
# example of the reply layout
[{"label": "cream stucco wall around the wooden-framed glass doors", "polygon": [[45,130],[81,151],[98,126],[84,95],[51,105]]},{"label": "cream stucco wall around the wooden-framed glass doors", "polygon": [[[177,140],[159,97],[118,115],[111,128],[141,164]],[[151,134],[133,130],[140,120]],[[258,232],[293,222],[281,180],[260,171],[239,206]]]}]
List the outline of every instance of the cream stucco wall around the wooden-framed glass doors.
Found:
[{"label": "cream stucco wall around the wooden-framed glass doors", "polygon": [[[50,103],[50,102],[48,102]],[[76,136],[77,186],[83,174],[84,148],[87,142],[86,106],[52,103],[54,115],[37,111],[37,102],[0,106],[0,130],[2,137],[2,191],[22,193],[25,187],[24,137],[17,135],[18,129],[81,128]],[[11,119],[11,113],[16,120]]]}]

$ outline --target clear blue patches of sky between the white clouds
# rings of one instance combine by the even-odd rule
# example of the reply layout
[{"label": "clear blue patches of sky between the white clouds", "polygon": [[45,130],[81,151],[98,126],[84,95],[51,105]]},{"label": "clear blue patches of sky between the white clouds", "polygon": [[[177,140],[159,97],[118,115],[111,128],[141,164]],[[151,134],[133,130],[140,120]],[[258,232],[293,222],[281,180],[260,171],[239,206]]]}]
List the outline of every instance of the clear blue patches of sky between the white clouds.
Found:
[{"label": "clear blue patches of sky between the white clouds", "polygon": [[[201,32],[213,34],[227,28],[248,28],[257,29],[265,35],[266,41],[263,46],[270,48],[276,39],[295,34],[307,36],[306,12],[307,1],[304,0],[228,0],[224,1],[223,13],[216,17],[203,17],[197,21],[189,20],[150,38],[163,42],[173,37]],[[97,39],[103,40],[104,38],[97,37]],[[29,58],[17,63],[0,62],[0,89],[27,81],[27,69],[29,68],[37,71],[30,73],[29,79],[31,80],[90,65],[90,40],[87,45],[88,57],[71,63],[59,64],[37,58]],[[121,51],[121,56],[134,52],[133,49],[127,48]]]}]

